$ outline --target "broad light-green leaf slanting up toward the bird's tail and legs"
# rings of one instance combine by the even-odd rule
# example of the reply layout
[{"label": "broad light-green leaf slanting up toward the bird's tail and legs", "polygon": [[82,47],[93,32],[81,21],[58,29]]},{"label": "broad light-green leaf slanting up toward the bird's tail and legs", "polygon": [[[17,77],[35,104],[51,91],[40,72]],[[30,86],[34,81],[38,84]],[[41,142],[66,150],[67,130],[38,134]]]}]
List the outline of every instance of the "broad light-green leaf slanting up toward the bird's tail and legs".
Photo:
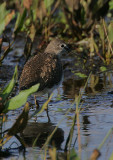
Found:
[{"label": "broad light-green leaf slanting up toward the bird's tail and legs", "polygon": [[27,101],[28,96],[32,93],[35,93],[38,90],[38,88],[39,84],[36,84],[29,89],[21,91],[17,96],[13,97],[12,99],[6,102],[4,106],[5,110],[3,112],[6,112],[8,110],[15,110],[24,105]]}]

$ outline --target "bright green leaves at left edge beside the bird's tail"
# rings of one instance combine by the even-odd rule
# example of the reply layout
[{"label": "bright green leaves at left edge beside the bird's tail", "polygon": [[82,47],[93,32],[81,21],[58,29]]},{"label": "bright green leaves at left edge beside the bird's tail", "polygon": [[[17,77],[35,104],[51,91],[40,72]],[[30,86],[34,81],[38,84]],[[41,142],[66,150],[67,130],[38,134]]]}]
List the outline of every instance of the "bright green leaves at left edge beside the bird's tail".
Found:
[{"label": "bright green leaves at left edge beside the bird's tail", "polygon": [[30,89],[21,91],[15,97],[7,100],[9,95],[13,91],[15,84],[16,84],[17,73],[18,72],[17,72],[17,66],[16,66],[12,80],[4,88],[4,90],[0,93],[0,97],[2,98],[1,102],[3,104],[3,107],[1,108],[1,113],[7,112],[8,110],[15,110],[15,109],[21,107],[22,105],[24,105],[26,103],[28,96],[38,90],[39,84],[32,86]]}]

